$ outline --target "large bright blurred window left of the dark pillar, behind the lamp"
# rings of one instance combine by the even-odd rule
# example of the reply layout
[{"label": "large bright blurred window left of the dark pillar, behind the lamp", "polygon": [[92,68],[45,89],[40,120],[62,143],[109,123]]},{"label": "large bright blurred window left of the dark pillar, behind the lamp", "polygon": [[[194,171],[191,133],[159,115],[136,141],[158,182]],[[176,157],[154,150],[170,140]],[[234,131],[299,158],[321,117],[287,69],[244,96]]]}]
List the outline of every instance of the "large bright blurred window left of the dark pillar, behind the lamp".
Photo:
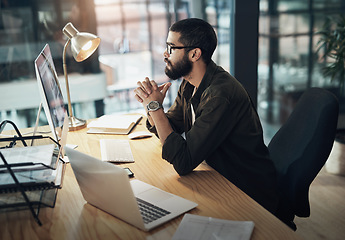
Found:
[{"label": "large bright blurred window left of the dark pillar, behind the lamp", "polygon": [[[163,52],[168,28],[176,20],[199,17],[210,22],[218,35],[213,56],[217,64],[231,71],[232,24],[234,1],[227,0],[36,0],[0,1],[0,84],[35,81],[34,60],[43,46],[50,45],[57,73],[63,76],[62,52],[66,42],[62,28],[72,22],[80,32],[101,38],[101,45],[92,57],[77,63],[67,51],[68,74],[104,72],[107,84],[133,82],[148,76],[166,82]],[[171,104],[179,82],[170,88]],[[33,87],[35,87],[33,85]],[[104,113],[140,108],[127,91],[122,96],[105,99]],[[13,94],[12,94],[13,95]],[[73,92],[71,91],[73,98]],[[32,96],[30,96],[32,97]],[[36,96],[37,97],[37,96]],[[64,96],[65,97],[65,96]],[[65,97],[66,98],[66,97]],[[108,104],[109,100],[119,100]],[[39,100],[37,100],[39,101]],[[130,102],[128,104],[128,102]],[[33,126],[39,102],[30,109],[12,106],[0,108],[1,118],[18,118],[19,127]],[[109,108],[116,106],[117,108]],[[74,104],[74,114],[83,119],[94,118],[103,111],[103,100],[96,104]],[[87,109],[86,109],[87,108]],[[15,112],[13,114],[13,112]],[[44,114],[41,114],[44,116]],[[41,119],[41,124],[44,123]]]}]

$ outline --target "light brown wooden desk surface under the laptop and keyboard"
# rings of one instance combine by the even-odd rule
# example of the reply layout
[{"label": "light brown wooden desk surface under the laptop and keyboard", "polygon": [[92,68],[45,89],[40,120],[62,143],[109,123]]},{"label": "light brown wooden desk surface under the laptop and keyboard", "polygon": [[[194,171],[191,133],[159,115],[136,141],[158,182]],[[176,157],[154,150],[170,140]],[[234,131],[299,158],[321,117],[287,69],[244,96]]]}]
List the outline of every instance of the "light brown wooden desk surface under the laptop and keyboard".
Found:
[{"label": "light brown wooden desk surface under the laptop and keyboard", "polygon": [[[145,128],[144,120],[134,131]],[[100,158],[99,139],[123,138],[120,135],[86,134],[86,129],[69,132],[68,143],[78,150]],[[173,166],[161,158],[156,137],[130,141],[135,163],[129,167],[135,177],[165,191],[179,195],[199,206],[191,214],[230,220],[252,220],[255,239],[300,239],[300,237],[206,164],[193,173],[179,176]],[[109,189],[111,190],[111,189]],[[116,199],[114,199],[116,204]],[[68,164],[55,208],[43,208],[38,226],[28,210],[0,213],[0,239],[171,239],[182,216],[143,232],[85,202],[73,171]]]}]

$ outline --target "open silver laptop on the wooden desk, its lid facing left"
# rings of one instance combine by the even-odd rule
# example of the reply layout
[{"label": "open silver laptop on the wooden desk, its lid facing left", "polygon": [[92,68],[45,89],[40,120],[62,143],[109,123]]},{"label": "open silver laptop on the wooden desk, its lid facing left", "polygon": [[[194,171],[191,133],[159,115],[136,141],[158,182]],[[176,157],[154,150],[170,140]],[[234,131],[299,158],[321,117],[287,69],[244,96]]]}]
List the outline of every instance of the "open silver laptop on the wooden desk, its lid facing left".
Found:
[{"label": "open silver laptop on the wooden desk, its lid facing left", "polygon": [[141,230],[149,231],[198,205],[142,181],[130,181],[127,172],[112,163],[65,150],[84,199]]}]

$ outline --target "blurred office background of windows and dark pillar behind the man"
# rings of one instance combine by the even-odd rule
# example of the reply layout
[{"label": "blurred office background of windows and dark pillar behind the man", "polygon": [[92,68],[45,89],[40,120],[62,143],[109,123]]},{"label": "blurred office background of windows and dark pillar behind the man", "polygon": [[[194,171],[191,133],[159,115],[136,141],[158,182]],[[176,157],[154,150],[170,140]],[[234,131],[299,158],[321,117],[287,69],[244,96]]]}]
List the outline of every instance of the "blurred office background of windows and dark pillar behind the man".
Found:
[{"label": "blurred office background of windows and dark pillar behind the man", "polygon": [[[169,80],[163,62],[169,26],[199,17],[214,26],[219,41],[214,61],[247,88],[268,141],[305,89],[327,88],[343,100],[339,86],[321,74],[325,62],[316,45],[326,17],[344,12],[344,0],[0,0],[0,118],[21,128],[34,125],[40,102],[34,60],[49,43],[63,77],[61,30],[67,22],[102,39],[85,62],[68,52],[70,84],[81,79],[83,85],[71,87],[74,114],[90,119],[141,111],[133,98],[136,82],[146,76]],[[167,107],[178,85],[174,82]],[[41,114],[40,124],[45,121]]]}]

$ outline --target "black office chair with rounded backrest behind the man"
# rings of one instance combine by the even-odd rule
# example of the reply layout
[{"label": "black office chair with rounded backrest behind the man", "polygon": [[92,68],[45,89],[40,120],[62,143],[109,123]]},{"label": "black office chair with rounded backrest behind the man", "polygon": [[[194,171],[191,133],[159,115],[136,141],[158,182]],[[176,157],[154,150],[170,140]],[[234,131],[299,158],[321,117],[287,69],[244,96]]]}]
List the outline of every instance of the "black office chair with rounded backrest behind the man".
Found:
[{"label": "black office chair with rounded backrest behind the man", "polygon": [[278,175],[276,216],[296,230],[295,216],[309,217],[309,186],[333,146],[339,103],[325,89],[310,88],[268,145]]}]

